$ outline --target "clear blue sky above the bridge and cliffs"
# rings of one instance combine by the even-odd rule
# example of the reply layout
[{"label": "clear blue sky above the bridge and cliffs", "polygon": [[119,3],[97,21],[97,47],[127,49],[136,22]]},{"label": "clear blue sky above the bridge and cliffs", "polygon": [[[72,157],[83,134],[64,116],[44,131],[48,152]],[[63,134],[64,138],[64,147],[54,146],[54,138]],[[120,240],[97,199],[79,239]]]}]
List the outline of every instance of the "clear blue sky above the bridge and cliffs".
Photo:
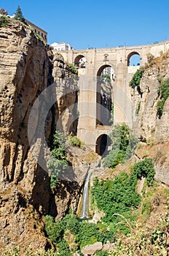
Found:
[{"label": "clear blue sky above the bridge and cliffs", "polygon": [[169,39],[168,0],[0,0],[9,15],[18,5],[25,18],[48,32],[50,44],[85,49]]}]

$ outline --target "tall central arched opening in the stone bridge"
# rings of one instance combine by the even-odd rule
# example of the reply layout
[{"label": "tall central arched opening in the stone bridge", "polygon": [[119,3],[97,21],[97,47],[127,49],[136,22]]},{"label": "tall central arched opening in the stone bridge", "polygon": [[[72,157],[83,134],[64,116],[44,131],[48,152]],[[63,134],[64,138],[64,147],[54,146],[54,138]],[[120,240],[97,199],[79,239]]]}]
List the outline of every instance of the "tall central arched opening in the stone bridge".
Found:
[{"label": "tall central arched opening in the stone bridge", "polygon": [[115,79],[114,69],[103,65],[97,73],[97,117],[96,125],[112,124],[112,81]]}]

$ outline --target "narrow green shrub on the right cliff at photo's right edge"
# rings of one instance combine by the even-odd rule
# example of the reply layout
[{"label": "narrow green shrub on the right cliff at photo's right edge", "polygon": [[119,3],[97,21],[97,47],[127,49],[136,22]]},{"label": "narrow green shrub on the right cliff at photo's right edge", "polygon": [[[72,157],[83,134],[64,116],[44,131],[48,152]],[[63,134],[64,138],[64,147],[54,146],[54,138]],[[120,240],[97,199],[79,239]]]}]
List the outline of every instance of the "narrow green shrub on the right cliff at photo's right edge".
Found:
[{"label": "narrow green shrub on the right cliff at photo's right edge", "polygon": [[161,118],[163,108],[165,105],[165,100],[168,99],[168,96],[169,96],[169,78],[162,81],[160,85],[159,94],[160,94],[160,99],[157,102],[157,115],[159,116],[159,118]]}]

